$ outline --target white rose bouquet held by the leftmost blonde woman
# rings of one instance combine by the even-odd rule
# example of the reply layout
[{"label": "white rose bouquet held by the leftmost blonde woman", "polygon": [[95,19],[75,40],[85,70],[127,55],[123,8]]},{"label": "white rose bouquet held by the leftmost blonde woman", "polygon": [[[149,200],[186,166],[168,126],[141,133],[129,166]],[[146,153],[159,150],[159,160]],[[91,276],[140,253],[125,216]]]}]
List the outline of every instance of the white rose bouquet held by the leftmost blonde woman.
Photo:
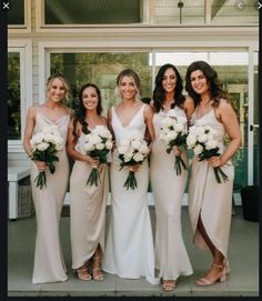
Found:
[{"label": "white rose bouquet held by the leftmost blonde woman", "polygon": [[[62,150],[63,139],[57,126],[50,126],[32,137],[30,140],[32,155],[31,160],[43,161],[51,173],[54,173],[56,167],[53,162],[59,161],[56,155],[58,151]],[[46,171],[40,171],[34,179],[37,187],[42,189],[47,185]]]}]

